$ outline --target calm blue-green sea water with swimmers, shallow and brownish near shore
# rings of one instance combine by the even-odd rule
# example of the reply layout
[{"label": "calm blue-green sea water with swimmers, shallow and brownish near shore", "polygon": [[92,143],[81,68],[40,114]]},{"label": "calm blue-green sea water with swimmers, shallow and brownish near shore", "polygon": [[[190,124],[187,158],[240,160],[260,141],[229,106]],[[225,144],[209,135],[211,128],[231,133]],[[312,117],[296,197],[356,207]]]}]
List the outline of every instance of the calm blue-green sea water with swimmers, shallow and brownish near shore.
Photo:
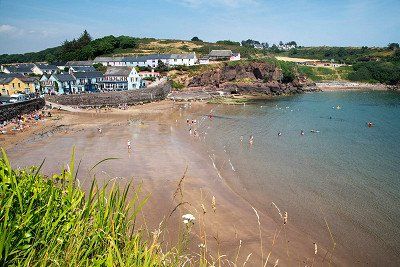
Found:
[{"label": "calm blue-green sea water with swimmers, shallow and brownish near shore", "polygon": [[400,265],[399,93],[321,92],[208,109],[204,143],[252,205],[275,216],[274,202],[310,242],[334,240],[354,264]]}]

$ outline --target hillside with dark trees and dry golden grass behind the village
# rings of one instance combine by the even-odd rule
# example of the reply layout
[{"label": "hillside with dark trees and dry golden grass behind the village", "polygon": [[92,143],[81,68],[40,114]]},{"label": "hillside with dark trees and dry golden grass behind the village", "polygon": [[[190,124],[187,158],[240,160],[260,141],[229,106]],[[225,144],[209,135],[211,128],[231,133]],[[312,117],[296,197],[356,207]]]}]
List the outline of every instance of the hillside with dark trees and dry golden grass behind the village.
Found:
[{"label": "hillside with dark trees and dry golden grass behind the village", "polygon": [[132,55],[150,53],[188,53],[196,52],[199,57],[208,54],[213,49],[230,49],[240,52],[244,57],[260,56],[262,51],[252,47],[240,46],[240,43],[218,41],[208,43],[187,40],[157,40],[155,38],[134,38],[113,35],[92,40],[86,31],[70,41],[64,41],[60,46],[48,48],[39,52],[25,54],[0,55],[0,64],[17,62],[58,62],[70,60],[89,60],[97,56]]}]

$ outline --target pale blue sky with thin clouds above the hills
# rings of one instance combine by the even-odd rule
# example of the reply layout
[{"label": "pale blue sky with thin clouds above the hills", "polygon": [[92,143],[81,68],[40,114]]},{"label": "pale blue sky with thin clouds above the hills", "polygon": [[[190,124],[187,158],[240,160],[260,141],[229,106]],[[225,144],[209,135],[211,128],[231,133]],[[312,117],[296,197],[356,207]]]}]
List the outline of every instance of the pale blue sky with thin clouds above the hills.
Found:
[{"label": "pale blue sky with thin clouds above the hills", "polygon": [[0,54],[79,37],[254,39],[303,46],[400,42],[400,0],[0,0]]}]

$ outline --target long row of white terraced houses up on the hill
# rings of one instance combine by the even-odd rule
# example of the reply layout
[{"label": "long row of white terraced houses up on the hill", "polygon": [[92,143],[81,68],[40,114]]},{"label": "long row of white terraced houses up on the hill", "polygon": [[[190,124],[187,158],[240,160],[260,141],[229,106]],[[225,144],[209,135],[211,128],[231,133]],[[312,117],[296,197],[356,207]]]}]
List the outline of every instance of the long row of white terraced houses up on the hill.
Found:
[{"label": "long row of white terraced houses up on the hill", "polygon": [[158,67],[161,61],[167,66],[193,66],[197,63],[196,53],[188,54],[151,54],[134,57],[97,57],[95,63],[101,63],[104,66],[121,67]]}]

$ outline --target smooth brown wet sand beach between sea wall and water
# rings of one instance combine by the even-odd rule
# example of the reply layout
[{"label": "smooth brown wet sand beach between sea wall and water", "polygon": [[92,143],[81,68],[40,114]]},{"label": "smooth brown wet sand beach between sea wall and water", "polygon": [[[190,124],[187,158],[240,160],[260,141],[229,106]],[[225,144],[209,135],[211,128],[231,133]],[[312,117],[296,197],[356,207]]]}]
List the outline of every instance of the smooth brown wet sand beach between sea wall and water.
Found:
[{"label": "smooth brown wet sand beach between sea wall and water", "polygon": [[[199,118],[206,104],[194,104],[193,119]],[[293,265],[350,265],[351,259],[327,253],[318,246],[314,255],[314,240],[305,233],[279,219],[278,213],[267,214],[259,209],[263,252],[260,249],[260,235],[257,216],[246,198],[234,192],[226,183],[230,175],[226,163],[214,162],[198,138],[189,136],[186,118],[181,116],[182,105],[163,101],[129,110],[112,110],[96,114],[57,112],[60,120],[1,141],[15,167],[39,165],[45,174],[60,172],[69,162],[71,149],[76,147],[76,160],[81,161],[78,179],[88,190],[93,177],[99,184],[118,181],[121,186],[132,182],[142,183],[142,196],[149,195],[141,216],[142,227],[148,232],[165,222],[165,241],[176,241],[177,232],[183,227],[181,215],[192,213],[196,224],[192,231],[191,250],[199,252],[198,244],[207,236],[207,248],[214,258],[219,255],[228,265],[227,259],[235,261],[239,243],[238,265],[243,265],[250,253],[248,266],[259,266],[269,253],[269,265],[279,259],[279,266]],[[200,112],[200,113],[199,113]],[[102,133],[98,132],[102,129]],[[127,141],[132,150],[127,149]],[[106,161],[89,172],[92,166],[106,158]],[[212,158],[212,157],[211,157]],[[76,164],[77,165],[77,164]],[[177,185],[185,172],[182,195],[176,192]],[[251,195],[251,192],[247,192]],[[212,197],[216,199],[213,211]],[[132,196],[133,197],[133,196]],[[171,212],[181,202],[175,212]],[[204,205],[206,213],[203,213]],[[170,216],[171,215],[171,216]],[[203,232],[203,224],[206,234]],[[331,248],[328,248],[331,250]],[[262,256],[263,254],[263,256]]]}]

